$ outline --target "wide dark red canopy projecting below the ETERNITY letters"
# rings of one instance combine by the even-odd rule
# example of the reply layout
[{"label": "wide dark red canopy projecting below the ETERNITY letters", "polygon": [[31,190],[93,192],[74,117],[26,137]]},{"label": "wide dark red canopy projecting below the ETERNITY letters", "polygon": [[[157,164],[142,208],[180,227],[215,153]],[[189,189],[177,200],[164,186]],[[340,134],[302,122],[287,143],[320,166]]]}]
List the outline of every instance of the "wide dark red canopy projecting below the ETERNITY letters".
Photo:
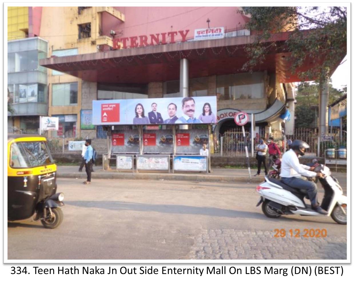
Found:
[{"label": "wide dark red canopy projecting below the ETERNITY letters", "polygon": [[[259,64],[254,71],[276,72],[279,83],[301,81],[298,72],[291,73],[291,63],[287,60],[290,53],[277,51],[289,34],[282,32],[269,39],[269,42],[276,42],[276,48],[269,51],[264,63]],[[255,39],[256,36],[251,35],[118,49],[41,59],[40,65],[90,82],[146,84],[178,80],[179,61],[187,58],[189,78],[226,75],[242,72],[241,67],[247,61],[245,47]],[[304,65],[297,71],[308,70],[309,66],[316,64],[312,61],[305,59]]]}]

